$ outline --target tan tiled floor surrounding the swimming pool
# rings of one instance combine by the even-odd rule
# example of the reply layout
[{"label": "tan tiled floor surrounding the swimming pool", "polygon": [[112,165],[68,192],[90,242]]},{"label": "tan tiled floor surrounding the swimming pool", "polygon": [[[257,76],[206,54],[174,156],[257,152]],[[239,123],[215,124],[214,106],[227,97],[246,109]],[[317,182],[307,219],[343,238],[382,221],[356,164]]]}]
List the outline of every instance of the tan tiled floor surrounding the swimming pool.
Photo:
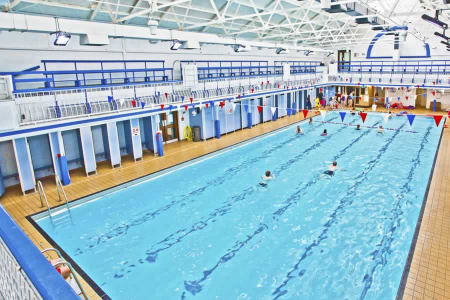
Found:
[{"label": "tan tiled floor surrounding the swimming pool", "polygon": [[[427,114],[431,112],[417,108],[414,113]],[[309,114],[308,117],[311,115],[313,114]],[[109,162],[100,162],[97,164],[98,173],[88,177],[85,176],[84,169],[76,169],[70,172],[72,183],[65,186],[64,190],[69,200],[74,200],[302,119],[302,113],[297,113],[289,118],[278,119],[276,122],[258,124],[252,129],[237,130],[228,135],[222,135],[220,139],[209,139],[206,142],[179,141],[167,144],[164,145],[164,156],[162,157],[154,157],[149,151],[144,151],[144,159],[134,162],[130,156],[124,156],[122,157],[122,167],[115,169],[111,168]],[[450,251],[447,255],[447,247],[450,246],[448,240],[450,187],[448,194],[446,193],[446,185],[450,182],[449,143],[450,138],[444,129],[404,299],[450,299]],[[50,206],[60,204],[61,202],[57,201],[54,178],[43,178],[41,181]],[[19,186],[9,187],[1,196],[0,203],[39,249],[50,247],[48,241],[25,218],[27,215],[45,209],[40,207],[38,193],[23,196]],[[84,280],[81,281],[91,299],[100,298],[101,295],[97,295]]]}]

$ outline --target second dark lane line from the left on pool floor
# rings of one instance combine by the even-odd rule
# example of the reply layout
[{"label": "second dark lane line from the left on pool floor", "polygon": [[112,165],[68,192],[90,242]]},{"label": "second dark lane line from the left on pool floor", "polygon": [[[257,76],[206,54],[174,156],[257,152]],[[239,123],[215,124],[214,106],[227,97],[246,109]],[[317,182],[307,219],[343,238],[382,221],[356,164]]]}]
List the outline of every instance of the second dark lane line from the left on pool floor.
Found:
[{"label": "second dark lane line from the left on pool floor", "polygon": [[[356,120],[354,120],[354,121],[356,121]],[[303,157],[304,154],[306,154],[306,153],[310,152],[311,150],[315,149],[322,142],[329,141],[330,138],[333,135],[336,135],[337,133],[339,133],[340,131],[343,131],[344,129],[345,129],[345,127],[341,127],[338,130],[336,130],[335,132],[327,135],[326,137],[323,137],[321,140],[315,142],[314,144],[312,144],[311,146],[309,146],[308,148],[303,150],[300,154],[296,155],[294,158],[289,159],[288,162],[284,163],[283,165],[284,166],[288,166],[288,165],[292,164],[293,162],[295,162],[298,159],[300,159],[301,157]],[[358,138],[356,138],[356,139],[358,140],[359,138],[360,138],[360,136],[358,136]],[[285,169],[285,168],[287,168],[287,167],[284,167],[282,169]],[[144,260],[146,260],[147,262],[150,262],[150,263],[151,262],[155,262],[156,258],[158,256],[158,253],[160,251],[166,250],[166,249],[170,248],[171,246],[173,246],[174,244],[177,244],[177,243],[181,242],[182,238],[184,238],[185,236],[189,235],[190,233],[195,232],[197,230],[201,230],[202,228],[204,228],[207,225],[208,221],[214,219],[218,215],[221,216],[221,215],[226,214],[227,212],[229,212],[229,210],[231,210],[231,205],[233,203],[245,199],[246,196],[248,196],[249,194],[252,194],[253,192],[254,192],[253,186],[248,187],[248,188],[244,189],[239,195],[233,196],[230,200],[224,201],[223,202],[224,205],[222,205],[221,207],[215,208],[214,212],[209,213],[209,217],[207,219],[198,221],[197,223],[195,223],[190,228],[189,231],[184,232],[185,230],[187,230],[187,228],[182,228],[182,229],[178,229],[175,232],[169,234],[166,238],[164,238],[164,239],[160,240],[159,242],[153,244],[151,247],[154,247],[154,246],[156,246],[158,244],[163,244],[163,246],[160,246],[159,248],[154,249],[154,250],[151,249],[151,248],[146,250],[145,254],[147,256],[144,259],[142,259],[142,258],[138,259],[138,262],[140,264],[142,264],[144,262]],[[214,220],[212,220],[212,221],[214,221]],[[178,233],[182,233],[182,234],[179,235],[179,236],[175,236]],[[170,240],[174,240],[174,241],[173,242],[169,242]],[[122,268],[119,272],[123,272],[123,271],[124,271],[124,268]],[[115,278],[120,278],[122,276],[123,276],[123,273],[116,272],[114,274]]]}]

